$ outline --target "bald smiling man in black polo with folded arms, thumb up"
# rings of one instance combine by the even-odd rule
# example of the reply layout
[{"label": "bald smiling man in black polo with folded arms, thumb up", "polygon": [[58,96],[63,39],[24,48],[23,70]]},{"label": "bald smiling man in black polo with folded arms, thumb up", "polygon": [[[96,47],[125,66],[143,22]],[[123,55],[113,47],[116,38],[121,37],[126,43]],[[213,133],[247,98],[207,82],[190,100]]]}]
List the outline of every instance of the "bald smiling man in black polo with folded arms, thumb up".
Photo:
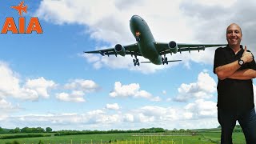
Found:
[{"label": "bald smiling man in black polo with folded arms, thumb up", "polygon": [[236,121],[246,143],[256,144],[256,114],[252,78],[256,78],[253,54],[240,46],[242,30],[235,23],[226,28],[228,45],[215,50],[214,73],[218,75],[218,122],[222,143],[232,143]]}]

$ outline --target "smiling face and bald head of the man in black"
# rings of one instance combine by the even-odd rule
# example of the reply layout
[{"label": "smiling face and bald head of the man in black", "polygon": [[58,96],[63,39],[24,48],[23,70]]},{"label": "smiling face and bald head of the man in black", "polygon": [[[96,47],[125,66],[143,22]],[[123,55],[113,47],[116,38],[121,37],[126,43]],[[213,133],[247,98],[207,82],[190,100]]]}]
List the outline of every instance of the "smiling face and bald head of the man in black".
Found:
[{"label": "smiling face and bald head of the man in black", "polygon": [[240,46],[242,40],[241,28],[236,24],[231,24],[226,29],[226,40],[230,46]]}]

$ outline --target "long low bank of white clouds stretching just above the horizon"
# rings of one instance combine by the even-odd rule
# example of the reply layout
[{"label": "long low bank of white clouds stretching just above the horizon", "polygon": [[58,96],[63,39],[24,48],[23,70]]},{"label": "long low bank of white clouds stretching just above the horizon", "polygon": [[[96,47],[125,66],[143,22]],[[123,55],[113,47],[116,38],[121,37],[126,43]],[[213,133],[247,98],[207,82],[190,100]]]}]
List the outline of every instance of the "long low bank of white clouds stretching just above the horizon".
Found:
[{"label": "long low bank of white clouds stretching just above the horizon", "polygon": [[[207,104],[207,106],[205,105]],[[216,103],[197,100],[182,107],[142,106],[129,111],[91,110],[82,114],[26,114],[0,118],[2,124],[12,122],[14,126],[50,126],[54,130],[123,130],[143,126],[176,128],[198,128],[218,126]],[[70,127],[69,127],[70,126]],[[72,126],[72,127],[71,127]]]}]

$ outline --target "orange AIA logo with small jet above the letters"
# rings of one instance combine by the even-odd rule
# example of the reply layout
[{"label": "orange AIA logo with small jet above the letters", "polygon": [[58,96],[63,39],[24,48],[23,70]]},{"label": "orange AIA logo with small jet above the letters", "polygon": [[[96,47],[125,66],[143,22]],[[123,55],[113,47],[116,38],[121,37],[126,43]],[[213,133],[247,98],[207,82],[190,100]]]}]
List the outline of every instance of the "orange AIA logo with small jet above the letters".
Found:
[{"label": "orange AIA logo with small jet above the letters", "polygon": [[22,13],[27,12],[28,6],[23,6],[24,1],[20,2],[18,6],[10,6],[14,10],[18,11],[18,29],[14,22],[13,17],[7,17],[6,22],[2,26],[1,34],[7,34],[8,31],[11,31],[13,34],[31,34],[32,31],[35,31],[37,34],[42,34],[42,27],[37,17],[30,18],[30,22],[26,28],[26,18],[22,17]]}]

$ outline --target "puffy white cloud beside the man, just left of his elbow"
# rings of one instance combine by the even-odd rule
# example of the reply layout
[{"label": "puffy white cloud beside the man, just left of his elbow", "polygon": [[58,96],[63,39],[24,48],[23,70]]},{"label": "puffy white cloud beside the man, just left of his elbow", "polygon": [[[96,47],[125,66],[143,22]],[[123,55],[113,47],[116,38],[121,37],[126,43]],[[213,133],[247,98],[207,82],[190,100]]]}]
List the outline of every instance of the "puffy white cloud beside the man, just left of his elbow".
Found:
[{"label": "puffy white cloud beside the man, just left of his elbow", "polygon": [[190,84],[182,83],[178,88],[178,96],[174,98],[176,102],[187,102],[192,98],[212,98],[216,91],[216,82],[209,74],[201,72],[198,74],[198,82]]}]

